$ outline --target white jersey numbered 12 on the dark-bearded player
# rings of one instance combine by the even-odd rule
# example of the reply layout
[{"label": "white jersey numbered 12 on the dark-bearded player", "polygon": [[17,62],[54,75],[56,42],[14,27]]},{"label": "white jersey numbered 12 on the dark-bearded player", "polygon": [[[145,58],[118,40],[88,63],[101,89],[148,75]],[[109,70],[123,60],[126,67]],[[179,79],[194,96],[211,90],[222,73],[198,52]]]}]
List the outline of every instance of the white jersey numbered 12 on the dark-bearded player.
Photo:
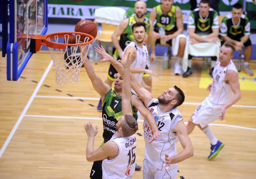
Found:
[{"label": "white jersey numbered 12 on the dark-bearded player", "polygon": [[[155,118],[158,132],[161,134],[155,141],[152,140],[152,131],[147,120],[144,120],[144,140],[145,140],[145,156],[149,163],[154,165],[159,170],[165,170],[165,153],[170,157],[177,155],[175,139],[176,133],[173,132],[175,125],[183,118],[178,108],[173,108],[171,111],[163,113],[159,109],[158,99],[152,99],[147,106],[148,110]],[[176,167],[178,164],[172,164],[169,170]]]}]

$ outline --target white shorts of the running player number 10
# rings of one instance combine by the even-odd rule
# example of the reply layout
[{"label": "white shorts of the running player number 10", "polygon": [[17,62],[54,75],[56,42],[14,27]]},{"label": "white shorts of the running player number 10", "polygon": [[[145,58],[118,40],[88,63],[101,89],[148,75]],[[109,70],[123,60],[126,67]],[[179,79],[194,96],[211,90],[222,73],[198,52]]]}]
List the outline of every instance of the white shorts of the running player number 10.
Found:
[{"label": "white shorts of the running player number 10", "polygon": [[223,105],[213,104],[206,98],[194,111],[194,115],[192,116],[193,123],[200,124],[204,128],[222,115],[222,107]]}]

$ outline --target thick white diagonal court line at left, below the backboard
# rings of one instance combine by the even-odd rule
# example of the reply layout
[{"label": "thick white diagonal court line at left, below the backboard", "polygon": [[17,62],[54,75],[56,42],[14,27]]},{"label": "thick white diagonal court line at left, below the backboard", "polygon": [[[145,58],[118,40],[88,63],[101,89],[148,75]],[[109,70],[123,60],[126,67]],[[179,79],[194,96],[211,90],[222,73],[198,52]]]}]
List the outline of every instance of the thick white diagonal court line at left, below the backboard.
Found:
[{"label": "thick white diagonal court line at left, below the backboard", "polygon": [[25,116],[26,112],[28,111],[29,106],[30,106],[31,103],[33,102],[33,100],[34,100],[34,98],[35,98],[35,96],[36,96],[36,93],[38,92],[38,90],[39,90],[40,87],[42,86],[42,84],[43,84],[43,82],[44,82],[44,79],[46,78],[48,72],[49,72],[50,69],[52,68],[52,64],[53,64],[53,62],[52,62],[52,60],[51,60],[51,62],[49,63],[47,69],[45,70],[45,72],[44,72],[42,78],[40,79],[38,85],[36,86],[35,91],[34,91],[33,94],[31,95],[31,97],[30,97],[30,99],[29,99],[27,105],[25,106],[25,108],[23,109],[22,113],[20,114],[19,119],[17,120],[17,122],[15,123],[14,127],[12,128],[11,133],[9,134],[8,138],[6,139],[6,141],[4,142],[4,145],[3,145],[3,147],[2,147],[1,150],[0,150],[0,158],[2,157],[2,155],[3,155],[3,153],[4,153],[4,151],[5,151],[6,147],[7,147],[7,145],[8,145],[9,142],[11,141],[11,139],[12,139],[12,137],[13,137],[15,131],[16,131],[17,128],[19,127],[19,125],[20,125],[20,123],[21,123],[23,117]]}]

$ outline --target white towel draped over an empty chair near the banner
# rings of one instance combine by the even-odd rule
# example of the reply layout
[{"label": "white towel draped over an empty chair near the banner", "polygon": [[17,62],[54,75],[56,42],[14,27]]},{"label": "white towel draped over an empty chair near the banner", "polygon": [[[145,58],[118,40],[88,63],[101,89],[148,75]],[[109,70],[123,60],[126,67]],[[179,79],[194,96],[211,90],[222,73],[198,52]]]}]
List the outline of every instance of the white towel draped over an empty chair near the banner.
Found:
[{"label": "white towel draped over an empty chair near the banner", "polygon": [[95,9],[95,21],[118,26],[124,20],[125,10],[119,7],[102,7]]}]

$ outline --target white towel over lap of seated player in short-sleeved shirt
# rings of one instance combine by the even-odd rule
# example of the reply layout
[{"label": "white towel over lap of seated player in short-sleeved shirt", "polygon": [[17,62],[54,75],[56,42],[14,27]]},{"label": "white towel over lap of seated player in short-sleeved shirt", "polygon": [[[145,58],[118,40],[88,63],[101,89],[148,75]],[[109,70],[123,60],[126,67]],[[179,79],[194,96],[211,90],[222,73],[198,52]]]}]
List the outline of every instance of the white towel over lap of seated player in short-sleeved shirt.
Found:
[{"label": "white towel over lap of seated player in short-sleeved shirt", "polygon": [[188,36],[185,50],[184,50],[183,60],[182,60],[182,70],[187,71],[188,69],[188,54],[192,56],[217,56],[217,59],[218,59],[220,46],[221,46],[220,41],[200,42],[196,44],[191,44],[189,42],[189,36]]}]

